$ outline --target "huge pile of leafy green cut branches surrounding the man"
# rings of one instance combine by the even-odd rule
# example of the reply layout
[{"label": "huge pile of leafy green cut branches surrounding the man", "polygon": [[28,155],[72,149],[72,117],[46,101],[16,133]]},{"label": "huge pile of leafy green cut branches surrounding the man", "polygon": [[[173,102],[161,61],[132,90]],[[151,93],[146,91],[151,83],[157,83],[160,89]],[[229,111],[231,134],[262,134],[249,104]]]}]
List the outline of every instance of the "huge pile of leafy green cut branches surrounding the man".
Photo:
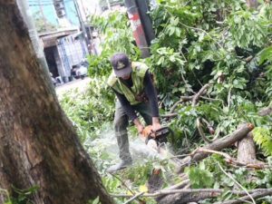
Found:
[{"label": "huge pile of leafy green cut branches surrounding the man", "polygon": [[[108,17],[91,17],[91,24],[101,34],[102,53],[89,57],[88,72],[103,88],[94,97],[93,92],[87,94],[83,109],[74,109],[70,114],[77,126],[90,132],[84,134],[83,141],[87,137],[94,140],[94,130],[99,131],[101,123],[112,122],[112,115],[107,113],[112,112],[114,95],[104,83],[112,70],[112,53],[125,52],[131,60],[147,63],[154,73],[160,91],[160,113],[175,116],[162,118],[162,123],[175,132],[176,154],[189,154],[206,146],[203,135],[212,141],[216,134],[222,138],[237,130],[238,124],[250,122],[255,126],[252,132],[258,144],[257,160],[267,164],[267,168],[254,170],[226,162],[222,153],[238,157],[238,148],[233,144],[224,152],[190,163],[183,177],[171,173],[174,167],[168,160],[149,159],[124,172],[107,175],[104,171],[112,155],[101,153],[90,143],[88,150],[95,150],[91,152],[92,159],[102,173],[106,188],[115,194],[127,191],[136,194],[136,189],[147,185],[153,168],[160,167],[162,188],[187,179],[191,189],[226,187],[221,193],[214,192],[215,197],[203,197],[201,203],[231,201],[238,197],[234,190],[245,193],[251,189],[271,189],[272,117],[269,112],[259,114],[258,111],[272,109],[272,5],[262,2],[257,9],[248,9],[244,1],[234,0],[157,2],[150,13],[156,38],[151,44],[151,57],[144,60],[139,59],[139,49],[125,14],[115,12]],[[78,107],[73,100],[68,101],[63,102],[66,112]],[[92,120],[97,117],[99,122]],[[132,127],[130,131],[135,132]],[[243,197],[242,193],[239,195]],[[117,203],[123,200],[115,199]],[[268,203],[269,197],[256,201]]]}]

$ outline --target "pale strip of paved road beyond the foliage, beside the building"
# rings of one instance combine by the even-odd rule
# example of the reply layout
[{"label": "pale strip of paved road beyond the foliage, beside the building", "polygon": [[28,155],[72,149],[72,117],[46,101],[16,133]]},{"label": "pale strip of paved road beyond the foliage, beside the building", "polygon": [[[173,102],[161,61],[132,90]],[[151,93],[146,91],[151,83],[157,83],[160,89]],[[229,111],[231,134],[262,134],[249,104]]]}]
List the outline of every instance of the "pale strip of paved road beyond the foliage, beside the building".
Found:
[{"label": "pale strip of paved road beyond the foliage, beside the building", "polygon": [[82,79],[74,79],[72,82],[69,83],[63,83],[60,86],[57,86],[55,88],[55,91],[57,94],[62,94],[63,92],[66,92],[68,90],[73,90],[78,88],[79,91],[83,90],[84,87],[88,85],[88,83],[91,81],[90,77],[85,77]]}]

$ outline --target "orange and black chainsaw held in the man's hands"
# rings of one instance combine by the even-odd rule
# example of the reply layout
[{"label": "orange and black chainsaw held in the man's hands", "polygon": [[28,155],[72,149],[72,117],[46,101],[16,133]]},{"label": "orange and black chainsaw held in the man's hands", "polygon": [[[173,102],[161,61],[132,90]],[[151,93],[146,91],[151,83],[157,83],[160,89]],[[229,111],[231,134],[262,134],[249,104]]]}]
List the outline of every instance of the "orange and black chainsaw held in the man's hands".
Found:
[{"label": "orange and black chainsaw held in the man's hands", "polygon": [[162,127],[157,131],[152,131],[152,126],[149,125],[143,129],[142,134],[145,137],[146,144],[153,139],[157,142],[159,147],[160,144],[168,142],[169,135],[171,137],[171,142],[174,143],[174,133],[169,127]]}]

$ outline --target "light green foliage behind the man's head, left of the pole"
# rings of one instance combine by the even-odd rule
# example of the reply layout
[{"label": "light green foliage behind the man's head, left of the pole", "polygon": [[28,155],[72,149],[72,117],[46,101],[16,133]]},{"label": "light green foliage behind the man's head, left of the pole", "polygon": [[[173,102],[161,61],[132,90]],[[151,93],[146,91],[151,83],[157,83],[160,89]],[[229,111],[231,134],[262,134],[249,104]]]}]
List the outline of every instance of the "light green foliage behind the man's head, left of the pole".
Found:
[{"label": "light green foliage behind the man's head, left of the pole", "polygon": [[99,56],[91,54],[88,57],[90,76],[108,76],[112,71],[110,57],[112,53],[127,53],[131,60],[139,58],[140,50],[134,42],[134,36],[126,15],[121,12],[112,12],[107,16],[90,17],[90,24],[102,34],[102,53]]}]

